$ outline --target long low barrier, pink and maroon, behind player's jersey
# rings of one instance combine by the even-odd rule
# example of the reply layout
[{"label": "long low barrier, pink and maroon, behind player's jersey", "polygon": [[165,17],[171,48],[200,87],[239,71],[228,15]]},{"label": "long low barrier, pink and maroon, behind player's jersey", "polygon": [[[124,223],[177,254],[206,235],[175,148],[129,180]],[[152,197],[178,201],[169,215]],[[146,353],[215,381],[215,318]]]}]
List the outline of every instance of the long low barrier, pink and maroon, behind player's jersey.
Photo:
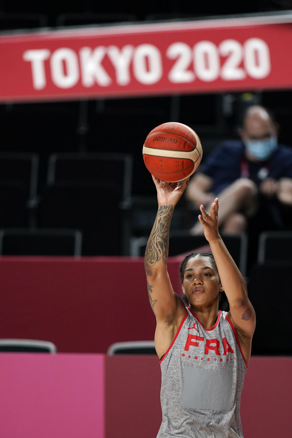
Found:
[{"label": "long low barrier, pink and maroon, behind player's jersey", "polygon": [[[291,357],[252,357],[241,397],[244,438],[291,435]],[[5,438],[155,438],[155,356],[0,354]]]}]

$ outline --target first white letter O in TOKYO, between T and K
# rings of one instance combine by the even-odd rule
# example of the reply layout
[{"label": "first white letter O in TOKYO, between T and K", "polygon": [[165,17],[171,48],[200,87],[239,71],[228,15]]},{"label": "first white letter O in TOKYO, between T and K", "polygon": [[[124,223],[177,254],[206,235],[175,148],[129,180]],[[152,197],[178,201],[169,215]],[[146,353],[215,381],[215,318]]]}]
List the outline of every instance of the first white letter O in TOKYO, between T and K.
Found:
[{"label": "first white letter O in TOKYO, between T and K", "polygon": [[61,48],[53,52],[51,59],[53,83],[59,88],[71,88],[79,79],[78,57],[74,50]]}]

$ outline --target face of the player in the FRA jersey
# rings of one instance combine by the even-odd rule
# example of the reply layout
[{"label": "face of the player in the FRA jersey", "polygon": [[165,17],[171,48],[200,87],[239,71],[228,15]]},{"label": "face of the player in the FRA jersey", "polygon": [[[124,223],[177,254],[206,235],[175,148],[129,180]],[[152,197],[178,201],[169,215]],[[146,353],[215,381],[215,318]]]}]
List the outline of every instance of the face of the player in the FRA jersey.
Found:
[{"label": "face of the player in the FRA jersey", "polygon": [[191,307],[208,307],[217,302],[223,288],[210,258],[197,256],[187,261],[182,289]]}]

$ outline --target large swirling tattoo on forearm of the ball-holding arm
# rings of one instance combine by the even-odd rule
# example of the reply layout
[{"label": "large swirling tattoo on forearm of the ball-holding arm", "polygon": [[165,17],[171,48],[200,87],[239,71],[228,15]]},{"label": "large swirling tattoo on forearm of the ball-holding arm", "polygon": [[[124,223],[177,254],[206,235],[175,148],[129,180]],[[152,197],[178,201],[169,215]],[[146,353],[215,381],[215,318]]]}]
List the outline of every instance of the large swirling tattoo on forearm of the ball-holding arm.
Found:
[{"label": "large swirling tattoo on forearm of the ball-holding arm", "polygon": [[166,265],[168,257],[169,226],[173,214],[172,205],[160,205],[146,251],[145,268],[154,266],[161,258]]}]

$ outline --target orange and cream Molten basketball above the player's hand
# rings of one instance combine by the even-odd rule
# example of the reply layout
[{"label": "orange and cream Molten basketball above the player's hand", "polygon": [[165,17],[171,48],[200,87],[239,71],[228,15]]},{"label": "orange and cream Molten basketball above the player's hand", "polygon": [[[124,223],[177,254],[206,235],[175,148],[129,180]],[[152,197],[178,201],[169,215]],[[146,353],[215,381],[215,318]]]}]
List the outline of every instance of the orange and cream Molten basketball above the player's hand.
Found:
[{"label": "orange and cream Molten basketball above the player's hand", "polygon": [[192,128],[168,122],[149,132],[143,145],[145,166],[162,181],[177,182],[190,177],[202,158],[200,138]]}]

